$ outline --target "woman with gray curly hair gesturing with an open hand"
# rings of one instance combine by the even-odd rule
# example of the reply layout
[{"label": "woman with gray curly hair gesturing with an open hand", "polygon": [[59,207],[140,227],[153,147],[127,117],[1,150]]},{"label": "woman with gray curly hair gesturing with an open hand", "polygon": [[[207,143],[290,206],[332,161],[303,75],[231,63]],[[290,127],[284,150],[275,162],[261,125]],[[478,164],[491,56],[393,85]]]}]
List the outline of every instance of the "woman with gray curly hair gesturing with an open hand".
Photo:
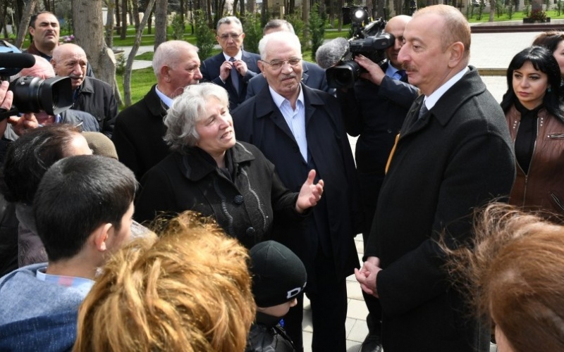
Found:
[{"label": "woman with gray curly hair gesturing with an open hand", "polygon": [[171,155],[141,180],[135,219],[194,210],[212,216],[251,248],[270,239],[272,222],[300,221],[323,193],[309,171],[300,193],[286,189],[259,149],[235,140],[227,92],[212,83],[185,88],[164,124]]}]

